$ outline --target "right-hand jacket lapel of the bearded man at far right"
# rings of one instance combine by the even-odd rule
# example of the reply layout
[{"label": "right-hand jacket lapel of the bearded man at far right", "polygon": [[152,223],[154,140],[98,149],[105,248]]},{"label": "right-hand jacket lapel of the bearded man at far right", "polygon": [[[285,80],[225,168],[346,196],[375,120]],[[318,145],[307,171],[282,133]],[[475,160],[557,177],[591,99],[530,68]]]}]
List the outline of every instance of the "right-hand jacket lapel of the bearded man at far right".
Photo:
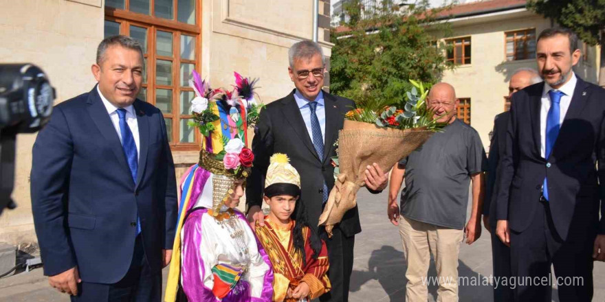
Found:
[{"label": "right-hand jacket lapel of the bearded man at far right", "polygon": [[[573,96],[571,97],[569,108],[567,109],[567,113],[563,119],[563,124],[561,124],[561,129],[559,130],[559,135],[555,141],[555,146],[553,146],[553,152],[557,152],[556,158],[558,159],[560,159],[563,155],[560,153],[562,150],[571,150],[571,148],[561,148],[564,146],[574,146],[573,140],[578,137],[577,128],[575,130],[573,129],[573,121],[580,118],[580,113],[582,113],[582,109],[584,109],[584,106],[586,106],[586,101],[590,96],[590,93],[586,91],[586,86],[586,82],[580,78],[577,78],[577,83],[575,84],[575,89],[573,90]],[[575,124],[575,126],[577,126],[577,124]]]}]

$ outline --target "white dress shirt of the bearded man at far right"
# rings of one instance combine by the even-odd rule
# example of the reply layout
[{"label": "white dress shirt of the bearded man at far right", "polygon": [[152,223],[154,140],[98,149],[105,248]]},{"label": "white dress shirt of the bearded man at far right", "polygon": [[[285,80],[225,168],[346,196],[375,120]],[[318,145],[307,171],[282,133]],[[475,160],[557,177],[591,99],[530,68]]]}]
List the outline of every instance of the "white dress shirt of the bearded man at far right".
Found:
[{"label": "white dress shirt of the bearded man at far right", "polygon": [[[575,91],[576,83],[577,78],[575,78],[575,73],[572,71],[571,79],[561,86],[560,89],[555,89],[564,93],[564,95],[561,96],[559,103],[559,127],[562,126],[565,115],[567,114],[567,109],[569,109],[569,104],[571,104],[571,97],[573,97],[573,91]],[[542,91],[542,106],[540,106],[540,154],[542,154],[544,159],[546,158],[546,119],[548,116],[548,111],[551,108],[551,97],[549,95],[549,91],[551,91],[551,89],[553,88],[547,84],[547,82],[544,82],[544,91]]]}]

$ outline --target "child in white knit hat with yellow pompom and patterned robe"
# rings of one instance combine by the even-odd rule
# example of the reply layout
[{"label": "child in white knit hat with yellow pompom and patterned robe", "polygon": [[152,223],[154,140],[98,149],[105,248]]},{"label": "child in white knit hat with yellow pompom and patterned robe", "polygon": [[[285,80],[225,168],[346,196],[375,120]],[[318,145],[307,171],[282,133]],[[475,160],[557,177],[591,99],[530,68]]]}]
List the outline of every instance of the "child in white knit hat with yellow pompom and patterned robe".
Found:
[{"label": "child in white knit hat with yellow pompom and patterned robe", "polygon": [[265,180],[270,213],[256,236],[274,270],[273,301],[310,301],[330,290],[326,244],[307,224],[300,196],[300,175],[286,154],[271,156]]}]

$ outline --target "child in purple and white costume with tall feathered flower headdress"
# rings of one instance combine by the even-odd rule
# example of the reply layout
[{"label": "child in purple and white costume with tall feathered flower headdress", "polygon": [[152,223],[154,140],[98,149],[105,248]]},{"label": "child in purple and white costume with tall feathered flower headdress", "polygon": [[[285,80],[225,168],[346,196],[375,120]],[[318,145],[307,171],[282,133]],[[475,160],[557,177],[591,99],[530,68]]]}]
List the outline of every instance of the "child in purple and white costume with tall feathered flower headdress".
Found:
[{"label": "child in purple and white costume with tall feathered flower headdress", "polygon": [[191,102],[194,121],[204,139],[199,163],[181,179],[166,302],[272,298],[269,257],[245,216],[235,209],[254,158],[245,147],[245,130],[259,111],[252,97],[255,81],[237,73],[236,80],[232,92],[211,90],[195,71],[190,81],[197,95]]}]

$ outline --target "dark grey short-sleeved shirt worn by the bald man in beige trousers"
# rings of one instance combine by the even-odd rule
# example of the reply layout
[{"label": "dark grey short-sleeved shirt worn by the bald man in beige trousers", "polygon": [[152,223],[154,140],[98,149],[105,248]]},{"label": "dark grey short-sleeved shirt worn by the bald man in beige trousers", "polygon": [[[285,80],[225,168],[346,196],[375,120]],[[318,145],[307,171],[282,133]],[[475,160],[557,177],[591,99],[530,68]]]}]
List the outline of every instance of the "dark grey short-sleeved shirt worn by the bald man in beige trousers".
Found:
[{"label": "dark grey short-sleeved shirt worn by the bald man in beige trousers", "polygon": [[487,167],[476,130],[456,119],[399,164],[406,168],[401,215],[439,227],[464,229],[470,176]]}]

